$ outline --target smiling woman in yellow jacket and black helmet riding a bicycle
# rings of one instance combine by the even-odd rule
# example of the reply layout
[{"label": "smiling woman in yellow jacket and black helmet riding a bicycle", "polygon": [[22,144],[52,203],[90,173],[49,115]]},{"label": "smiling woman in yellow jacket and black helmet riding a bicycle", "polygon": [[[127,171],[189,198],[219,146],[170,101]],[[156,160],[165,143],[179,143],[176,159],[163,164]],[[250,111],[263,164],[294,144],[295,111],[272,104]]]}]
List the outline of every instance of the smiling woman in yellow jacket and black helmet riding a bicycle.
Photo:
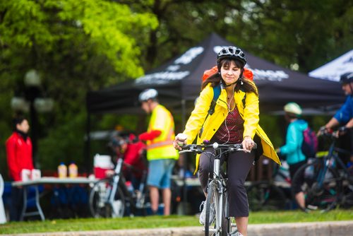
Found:
[{"label": "smiling woman in yellow jacket and black helmet riding a bicycle", "polygon": [[[186,123],[183,134],[174,140],[174,148],[179,144],[190,144],[198,135],[197,143],[205,140],[218,143],[242,143],[247,152],[230,153],[227,158],[227,189],[229,196],[229,216],[235,217],[237,228],[242,235],[247,234],[249,206],[244,186],[245,179],[255,158],[253,138],[259,137],[258,148],[262,145],[263,155],[280,163],[268,136],[258,125],[258,90],[256,85],[244,78],[246,57],[237,47],[224,47],[217,54],[218,72],[206,79],[196,106]],[[209,112],[213,100],[214,87],[220,86],[220,96]],[[212,150],[210,150],[212,151]],[[224,160],[224,157],[223,157]],[[208,173],[213,170],[213,160],[208,155],[196,156],[201,187],[207,193]],[[205,223],[205,212],[201,212],[200,223]],[[240,235],[241,235],[240,234]]]}]

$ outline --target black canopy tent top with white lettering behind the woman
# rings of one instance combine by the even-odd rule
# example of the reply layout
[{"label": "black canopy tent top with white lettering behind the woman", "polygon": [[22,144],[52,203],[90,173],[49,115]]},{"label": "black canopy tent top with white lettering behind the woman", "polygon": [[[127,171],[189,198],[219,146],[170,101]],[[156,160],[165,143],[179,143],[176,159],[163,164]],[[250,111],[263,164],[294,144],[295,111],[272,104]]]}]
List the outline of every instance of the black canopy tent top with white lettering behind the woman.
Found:
[{"label": "black canopy tent top with white lettering behind the woman", "polygon": [[[211,34],[199,45],[154,69],[136,80],[111,88],[91,91],[87,95],[88,112],[138,114],[138,94],[145,88],[158,90],[160,102],[167,107],[181,108],[195,100],[200,93],[203,71],[215,66],[217,52],[222,46],[233,45],[222,37]],[[261,112],[282,110],[287,102],[298,102],[302,107],[325,110],[340,104],[344,95],[340,84],[306,76],[304,73],[282,68],[245,51],[248,64],[258,86]]]}]

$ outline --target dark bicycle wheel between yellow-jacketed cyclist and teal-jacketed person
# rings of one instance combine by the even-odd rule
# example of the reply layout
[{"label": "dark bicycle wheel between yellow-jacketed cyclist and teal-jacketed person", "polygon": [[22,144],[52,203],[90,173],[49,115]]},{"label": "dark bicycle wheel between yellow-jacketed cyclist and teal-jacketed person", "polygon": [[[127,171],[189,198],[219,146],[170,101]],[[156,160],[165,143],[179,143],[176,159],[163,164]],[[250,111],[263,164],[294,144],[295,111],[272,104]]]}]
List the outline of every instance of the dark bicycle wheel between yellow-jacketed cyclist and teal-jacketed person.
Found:
[{"label": "dark bicycle wheel between yellow-jacketed cyclist and teal-jacketed person", "polygon": [[255,182],[247,189],[250,211],[284,210],[287,203],[285,192],[271,182]]}]

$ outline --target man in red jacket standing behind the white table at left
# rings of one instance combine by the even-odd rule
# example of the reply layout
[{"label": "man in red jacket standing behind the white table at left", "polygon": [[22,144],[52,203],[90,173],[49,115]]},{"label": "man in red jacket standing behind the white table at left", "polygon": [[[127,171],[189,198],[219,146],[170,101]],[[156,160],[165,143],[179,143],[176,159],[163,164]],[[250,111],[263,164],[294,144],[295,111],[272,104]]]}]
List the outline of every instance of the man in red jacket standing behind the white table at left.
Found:
[{"label": "man in red jacket standing behind the white table at left", "polygon": [[[19,117],[14,119],[13,134],[6,141],[6,155],[8,174],[11,180],[20,181],[23,169],[33,170],[32,142],[28,136],[30,125],[28,120]],[[12,187],[11,189],[10,220],[20,220],[20,212],[23,204],[23,189]]]}]

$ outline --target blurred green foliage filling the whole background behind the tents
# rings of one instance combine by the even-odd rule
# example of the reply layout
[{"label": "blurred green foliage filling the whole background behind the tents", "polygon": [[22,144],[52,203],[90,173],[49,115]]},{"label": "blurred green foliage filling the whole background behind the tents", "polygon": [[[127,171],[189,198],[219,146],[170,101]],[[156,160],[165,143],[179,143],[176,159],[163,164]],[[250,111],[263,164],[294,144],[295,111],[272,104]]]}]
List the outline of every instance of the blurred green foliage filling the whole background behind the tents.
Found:
[{"label": "blurred green foliage filling the whole background behind the tents", "polygon": [[[353,3],[344,0],[8,0],[0,1],[0,141],[11,134],[10,101],[23,77],[40,71],[42,96],[54,110],[39,114],[37,165],[85,160],[85,95],[137,78],[217,33],[247,52],[307,73],[352,49]],[[28,113],[26,113],[28,116]],[[318,128],[330,117],[311,118]],[[177,131],[182,129],[176,114]],[[92,115],[93,131],[121,124],[141,132],[145,117]],[[282,117],[261,114],[275,146]],[[92,153],[102,150],[92,143]],[[0,172],[6,173],[4,145]]]}]

